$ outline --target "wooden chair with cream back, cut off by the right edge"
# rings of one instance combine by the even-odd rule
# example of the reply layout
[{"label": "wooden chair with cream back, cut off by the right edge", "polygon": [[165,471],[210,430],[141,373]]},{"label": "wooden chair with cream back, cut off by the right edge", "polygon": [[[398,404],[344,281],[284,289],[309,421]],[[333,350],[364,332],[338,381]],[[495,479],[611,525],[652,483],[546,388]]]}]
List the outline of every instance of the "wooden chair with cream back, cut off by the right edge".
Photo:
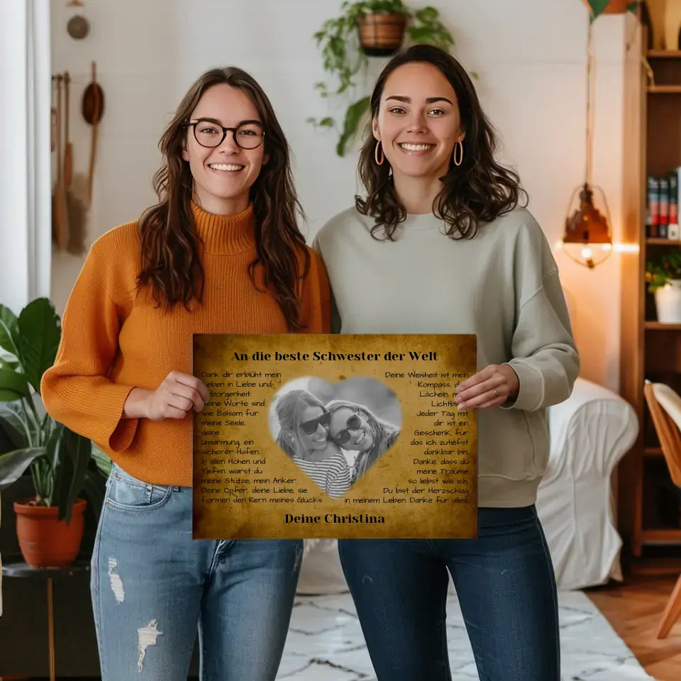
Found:
[{"label": "wooden chair with cream back, cut off by the right edge", "polygon": [[[646,381],[643,386],[643,394],[646,396],[650,416],[653,417],[655,432],[658,434],[672,482],[681,491],[681,397],[668,385],[650,381]],[[658,638],[666,638],[680,615],[681,576],[662,615]]]}]

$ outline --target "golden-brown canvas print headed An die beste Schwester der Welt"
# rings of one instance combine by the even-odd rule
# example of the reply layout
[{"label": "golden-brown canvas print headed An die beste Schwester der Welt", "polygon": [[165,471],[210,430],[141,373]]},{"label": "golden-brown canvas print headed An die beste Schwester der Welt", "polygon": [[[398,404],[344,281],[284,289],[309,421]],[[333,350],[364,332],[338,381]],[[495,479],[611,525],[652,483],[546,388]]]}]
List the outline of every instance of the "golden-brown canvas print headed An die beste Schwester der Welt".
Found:
[{"label": "golden-brown canvas print headed An die beste Schwester der Welt", "polygon": [[477,533],[475,336],[194,336],[195,538]]}]

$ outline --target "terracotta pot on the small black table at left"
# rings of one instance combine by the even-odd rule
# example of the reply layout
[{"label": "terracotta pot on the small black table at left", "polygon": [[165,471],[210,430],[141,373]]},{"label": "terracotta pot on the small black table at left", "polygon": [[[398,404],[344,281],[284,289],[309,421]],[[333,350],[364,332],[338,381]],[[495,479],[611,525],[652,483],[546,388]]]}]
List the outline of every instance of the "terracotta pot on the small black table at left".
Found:
[{"label": "terracotta pot on the small black table at left", "polygon": [[16,536],[21,554],[33,567],[62,567],[76,559],[83,538],[83,513],[87,502],[77,499],[71,521],[57,520],[57,506],[31,506],[30,499],[14,502]]}]

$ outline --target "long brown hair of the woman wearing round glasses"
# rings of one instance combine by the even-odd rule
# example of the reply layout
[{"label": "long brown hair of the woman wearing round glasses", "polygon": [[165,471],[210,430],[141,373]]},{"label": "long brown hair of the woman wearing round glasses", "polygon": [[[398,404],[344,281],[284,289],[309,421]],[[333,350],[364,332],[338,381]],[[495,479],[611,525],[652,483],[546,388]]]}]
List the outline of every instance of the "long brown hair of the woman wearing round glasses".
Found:
[{"label": "long brown hair of the woman wearing round glasses", "polygon": [[172,307],[181,302],[188,308],[192,299],[201,302],[204,268],[192,214],[192,172],[182,158],[187,135],[184,124],[204,92],[223,83],[240,88],[253,100],[265,128],[265,154],[269,156],[250,188],[257,257],[248,273],[257,286],[255,271],[262,266],[265,289],[279,304],[289,329],[299,329],[303,326],[299,282],[309,272],[310,256],[297,226],[297,216],[303,216],[303,211],[293,184],[289,145],[265,92],[250,74],[236,67],[201,74],[162,135],[159,148],[164,162],[153,179],[158,203],[139,221],[142,265],[138,284],[150,285],[158,304]]}]

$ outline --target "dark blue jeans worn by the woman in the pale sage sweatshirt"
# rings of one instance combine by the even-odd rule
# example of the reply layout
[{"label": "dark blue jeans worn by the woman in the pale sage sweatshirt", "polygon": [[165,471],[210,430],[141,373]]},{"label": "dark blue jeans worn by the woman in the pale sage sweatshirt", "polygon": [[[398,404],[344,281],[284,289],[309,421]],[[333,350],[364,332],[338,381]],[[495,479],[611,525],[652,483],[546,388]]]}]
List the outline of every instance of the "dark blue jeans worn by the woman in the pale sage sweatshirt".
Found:
[{"label": "dark blue jeans worn by the woman in the pale sage sweatshirt", "polygon": [[338,542],[379,681],[450,681],[448,571],[480,681],[560,681],[553,565],[534,506],[478,509],[477,539]]}]

